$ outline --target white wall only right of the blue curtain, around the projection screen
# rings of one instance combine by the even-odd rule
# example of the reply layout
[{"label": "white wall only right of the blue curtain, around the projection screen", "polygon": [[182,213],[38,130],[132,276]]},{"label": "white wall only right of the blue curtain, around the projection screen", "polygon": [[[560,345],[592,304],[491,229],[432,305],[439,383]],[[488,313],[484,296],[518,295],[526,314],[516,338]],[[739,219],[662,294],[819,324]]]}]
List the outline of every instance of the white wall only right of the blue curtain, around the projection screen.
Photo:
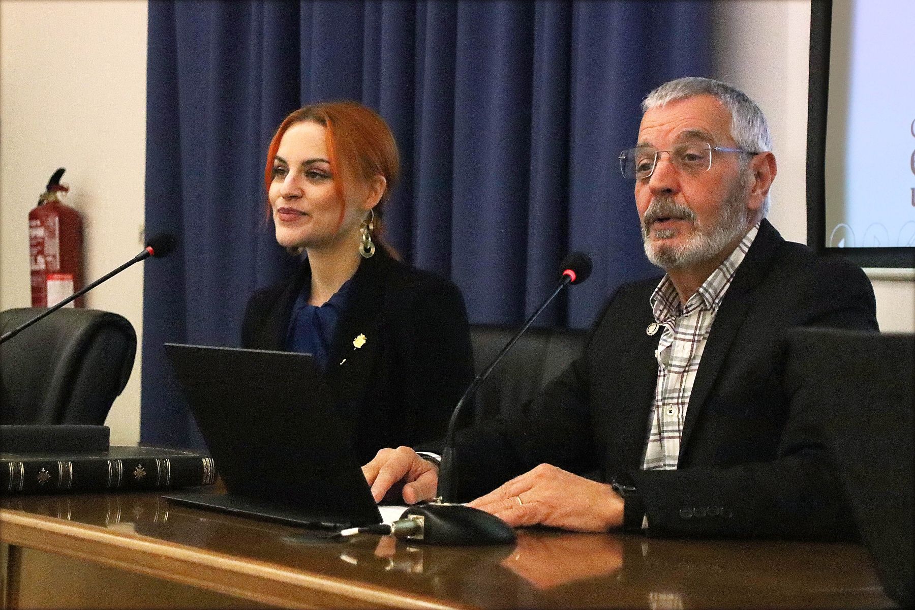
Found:
[{"label": "white wall only right of the blue curtain, around the projection screen", "polygon": [[[716,3],[716,70],[759,103],[769,118],[779,174],[769,219],[782,236],[807,241],[807,86],[810,0]],[[915,282],[878,279],[877,321],[884,331],[915,331]]]}]

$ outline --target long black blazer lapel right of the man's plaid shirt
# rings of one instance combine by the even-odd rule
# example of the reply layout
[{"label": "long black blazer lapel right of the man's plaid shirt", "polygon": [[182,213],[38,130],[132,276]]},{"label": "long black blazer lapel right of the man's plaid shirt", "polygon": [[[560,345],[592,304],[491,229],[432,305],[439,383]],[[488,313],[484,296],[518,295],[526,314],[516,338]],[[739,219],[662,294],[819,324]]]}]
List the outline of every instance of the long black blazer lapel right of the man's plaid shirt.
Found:
[{"label": "long black blazer lapel right of the man's plaid shirt", "polygon": [[709,331],[708,341],[696,371],[693,391],[690,393],[689,407],[684,419],[684,432],[680,439],[680,455],[689,443],[696,421],[705,409],[708,394],[715,385],[721,367],[730,351],[737,330],[747,317],[749,306],[753,302],[753,289],[762,281],[769,270],[772,257],[784,241],[769,222],[763,219],[753,245],[750,246],[743,262],[737,268],[734,280],[727,289],[727,294],[718,308],[715,321]]}]

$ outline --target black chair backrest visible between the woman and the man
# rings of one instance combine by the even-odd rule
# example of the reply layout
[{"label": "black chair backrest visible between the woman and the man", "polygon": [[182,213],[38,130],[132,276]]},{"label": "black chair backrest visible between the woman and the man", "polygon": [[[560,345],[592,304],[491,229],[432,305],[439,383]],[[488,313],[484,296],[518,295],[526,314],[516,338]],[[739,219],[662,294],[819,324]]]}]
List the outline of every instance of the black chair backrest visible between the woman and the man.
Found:
[{"label": "black chair backrest visible between the woman and the man", "polygon": [[[476,373],[489,365],[518,329],[513,326],[470,327]],[[529,328],[477,391],[476,421],[520,415],[547,381],[581,353],[587,331]]]}]

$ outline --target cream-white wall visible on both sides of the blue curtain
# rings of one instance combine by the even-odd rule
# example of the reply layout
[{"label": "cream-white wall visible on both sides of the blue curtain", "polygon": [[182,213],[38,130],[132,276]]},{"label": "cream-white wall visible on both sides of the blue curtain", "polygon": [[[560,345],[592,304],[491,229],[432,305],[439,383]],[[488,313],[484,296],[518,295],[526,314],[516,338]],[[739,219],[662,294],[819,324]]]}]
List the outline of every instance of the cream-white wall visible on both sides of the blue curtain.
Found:
[{"label": "cream-white wall visible on both sides of the blue curtain", "polygon": [[[716,3],[716,74],[759,102],[779,176],[770,219],[806,240],[809,0]],[[86,224],[86,275],[140,250],[145,173],[146,2],[0,1],[0,308],[29,305],[27,213],[50,174],[67,168],[69,203]],[[126,316],[142,336],[139,265],[102,284],[88,305]],[[915,330],[915,283],[874,282],[884,330]],[[140,359],[108,424],[139,438]]]}]

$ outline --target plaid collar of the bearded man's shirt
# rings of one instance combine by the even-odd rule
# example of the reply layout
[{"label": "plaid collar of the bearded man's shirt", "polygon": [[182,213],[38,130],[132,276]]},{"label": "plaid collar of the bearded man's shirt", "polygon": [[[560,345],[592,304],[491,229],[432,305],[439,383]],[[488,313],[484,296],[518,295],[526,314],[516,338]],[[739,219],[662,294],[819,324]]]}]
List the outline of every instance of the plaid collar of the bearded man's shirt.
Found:
[{"label": "plaid collar of the bearded man's shirt", "polygon": [[677,316],[689,314],[697,309],[704,309],[713,313],[717,312],[725,293],[727,293],[727,288],[734,279],[734,274],[737,273],[737,267],[743,262],[758,232],[759,222],[748,231],[747,235],[737,244],[737,248],[727,256],[727,259],[721,262],[716,270],[705,278],[705,282],[699,286],[685,305],[680,303],[680,295],[677,294],[670,275],[665,273],[661,282],[651,293],[650,303],[654,320],[659,324],[663,324]]}]

